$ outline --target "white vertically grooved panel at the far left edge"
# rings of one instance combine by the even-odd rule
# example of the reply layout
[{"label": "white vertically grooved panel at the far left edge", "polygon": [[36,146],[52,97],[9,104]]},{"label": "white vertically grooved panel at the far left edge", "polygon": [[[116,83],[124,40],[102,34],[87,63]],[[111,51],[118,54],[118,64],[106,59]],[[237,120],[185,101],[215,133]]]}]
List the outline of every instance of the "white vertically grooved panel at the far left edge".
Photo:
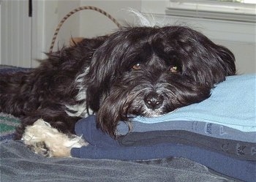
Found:
[{"label": "white vertically grooved panel at the far left edge", "polygon": [[31,18],[27,1],[1,1],[1,62],[30,67]]}]

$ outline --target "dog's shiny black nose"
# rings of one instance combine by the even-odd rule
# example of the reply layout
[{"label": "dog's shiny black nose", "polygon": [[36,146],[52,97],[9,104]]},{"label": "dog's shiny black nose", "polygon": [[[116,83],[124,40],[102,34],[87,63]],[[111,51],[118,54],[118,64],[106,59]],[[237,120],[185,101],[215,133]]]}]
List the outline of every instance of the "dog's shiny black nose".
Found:
[{"label": "dog's shiny black nose", "polygon": [[157,94],[155,92],[149,93],[144,98],[145,105],[150,109],[158,109],[162,106],[163,101],[164,99],[162,95]]}]

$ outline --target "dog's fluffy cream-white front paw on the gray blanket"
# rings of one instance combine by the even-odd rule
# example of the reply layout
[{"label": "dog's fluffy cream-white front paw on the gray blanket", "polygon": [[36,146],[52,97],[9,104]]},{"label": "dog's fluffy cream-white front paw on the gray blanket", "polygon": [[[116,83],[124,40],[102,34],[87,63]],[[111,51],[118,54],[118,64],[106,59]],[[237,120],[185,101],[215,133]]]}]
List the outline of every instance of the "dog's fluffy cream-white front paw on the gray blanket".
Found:
[{"label": "dog's fluffy cream-white front paw on the gray blanket", "polygon": [[82,137],[67,135],[54,129],[42,119],[26,126],[22,139],[34,153],[47,157],[69,157],[72,148],[88,145]]}]

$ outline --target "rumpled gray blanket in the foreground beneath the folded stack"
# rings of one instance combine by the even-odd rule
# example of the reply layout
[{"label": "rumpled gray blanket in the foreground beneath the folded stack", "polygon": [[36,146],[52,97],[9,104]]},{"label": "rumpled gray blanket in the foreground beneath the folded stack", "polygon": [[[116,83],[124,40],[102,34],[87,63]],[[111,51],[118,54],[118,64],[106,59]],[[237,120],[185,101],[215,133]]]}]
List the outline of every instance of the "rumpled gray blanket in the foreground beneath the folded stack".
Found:
[{"label": "rumpled gray blanket in the foreground beneath the folded stack", "polygon": [[45,158],[21,142],[1,144],[1,182],[8,181],[230,181],[189,159],[139,162]]}]

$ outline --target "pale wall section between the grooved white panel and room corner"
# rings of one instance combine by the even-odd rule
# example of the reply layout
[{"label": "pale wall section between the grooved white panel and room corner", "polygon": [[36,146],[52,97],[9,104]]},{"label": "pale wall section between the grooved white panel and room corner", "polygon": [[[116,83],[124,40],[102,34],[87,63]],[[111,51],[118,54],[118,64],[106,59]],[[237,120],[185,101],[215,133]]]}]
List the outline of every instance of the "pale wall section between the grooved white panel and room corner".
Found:
[{"label": "pale wall section between the grooved white panel and room corner", "polygon": [[[65,15],[76,7],[80,1],[33,1],[32,67],[37,67],[37,59],[46,58],[56,27]],[[69,44],[71,36],[79,35],[79,16],[72,15],[59,30],[53,50]]]}]

